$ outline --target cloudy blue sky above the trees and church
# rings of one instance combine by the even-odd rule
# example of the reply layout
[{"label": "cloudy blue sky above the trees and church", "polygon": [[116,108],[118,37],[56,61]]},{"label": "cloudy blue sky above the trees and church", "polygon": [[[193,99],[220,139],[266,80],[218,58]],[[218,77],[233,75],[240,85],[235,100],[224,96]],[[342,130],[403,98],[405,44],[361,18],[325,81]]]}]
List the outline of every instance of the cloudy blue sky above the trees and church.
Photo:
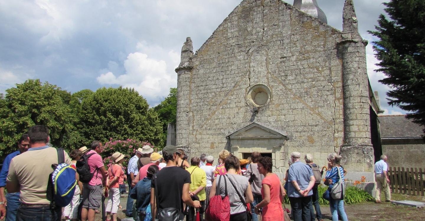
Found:
[{"label": "cloudy blue sky above the trees and church", "polygon": [[[366,47],[368,76],[385,115],[388,87],[367,33],[387,0],[354,0]],[[174,69],[191,37],[198,50],[241,0],[0,0],[0,93],[28,78],[68,92],[133,87],[150,106],[177,87]],[[292,4],[293,0],[287,0]],[[344,0],[317,0],[328,24],[342,30]]]}]

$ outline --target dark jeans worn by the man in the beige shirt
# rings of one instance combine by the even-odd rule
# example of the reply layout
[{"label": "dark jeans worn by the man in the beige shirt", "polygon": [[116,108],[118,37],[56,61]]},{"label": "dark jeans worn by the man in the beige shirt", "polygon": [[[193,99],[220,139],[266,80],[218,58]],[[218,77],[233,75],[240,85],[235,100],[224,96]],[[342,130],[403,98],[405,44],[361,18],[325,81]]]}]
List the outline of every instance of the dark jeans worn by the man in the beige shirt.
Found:
[{"label": "dark jeans worn by the man in the beige shirt", "polygon": [[60,221],[62,207],[50,209],[50,205],[42,207],[20,206],[16,215],[17,221]]}]

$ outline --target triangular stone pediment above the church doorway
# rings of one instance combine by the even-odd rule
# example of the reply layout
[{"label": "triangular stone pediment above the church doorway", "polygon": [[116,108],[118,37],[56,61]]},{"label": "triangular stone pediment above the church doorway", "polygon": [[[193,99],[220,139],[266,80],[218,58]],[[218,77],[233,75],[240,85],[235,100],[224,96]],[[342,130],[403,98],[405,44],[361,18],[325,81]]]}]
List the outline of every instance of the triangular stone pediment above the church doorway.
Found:
[{"label": "triangular stone pediment above the church doorway", "polygon": [[283,131],[278,131],[260,123],[252,122],[232,134],[229,134],[227,137],[230,139],[286,139],[286,136],[287,134]]}]

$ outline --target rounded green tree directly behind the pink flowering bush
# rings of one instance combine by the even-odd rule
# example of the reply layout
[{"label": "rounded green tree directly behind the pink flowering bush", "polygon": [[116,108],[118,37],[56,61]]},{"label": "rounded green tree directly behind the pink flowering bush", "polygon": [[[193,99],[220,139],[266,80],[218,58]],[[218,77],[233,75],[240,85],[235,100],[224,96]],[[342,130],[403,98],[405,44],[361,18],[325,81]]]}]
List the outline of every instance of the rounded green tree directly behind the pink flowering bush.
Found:
[{"label": "rounded green tree directly behind the pink flowering bush", "polygon": [[79,130],[93,140],[147,140],[163,145],[158,115],[134,89],[100,88],[82,99]]}]

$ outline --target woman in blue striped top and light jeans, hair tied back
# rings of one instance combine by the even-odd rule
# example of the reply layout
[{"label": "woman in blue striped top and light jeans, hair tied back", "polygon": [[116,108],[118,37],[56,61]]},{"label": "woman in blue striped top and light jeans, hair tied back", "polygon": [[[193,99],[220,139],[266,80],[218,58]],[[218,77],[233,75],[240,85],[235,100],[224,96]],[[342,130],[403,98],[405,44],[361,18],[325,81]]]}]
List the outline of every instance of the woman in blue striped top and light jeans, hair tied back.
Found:
[{"label": "woman in blue striped top and light jeans, hair tied back", "polygon": [[[338,170],[340,170],[341,178],[344,182],[344,169],[340,165],[341,159],[342,157],[336,153],[331,153],[328,156],[328,171],[326,171],[326,179],[329,184],[337,183],[340,180]],[[344,210],[344,200],[331,198],[329,206],[331,207],[332,221],[338,221],[338,214],[341,216],[343,221],[348,221]]]}]

